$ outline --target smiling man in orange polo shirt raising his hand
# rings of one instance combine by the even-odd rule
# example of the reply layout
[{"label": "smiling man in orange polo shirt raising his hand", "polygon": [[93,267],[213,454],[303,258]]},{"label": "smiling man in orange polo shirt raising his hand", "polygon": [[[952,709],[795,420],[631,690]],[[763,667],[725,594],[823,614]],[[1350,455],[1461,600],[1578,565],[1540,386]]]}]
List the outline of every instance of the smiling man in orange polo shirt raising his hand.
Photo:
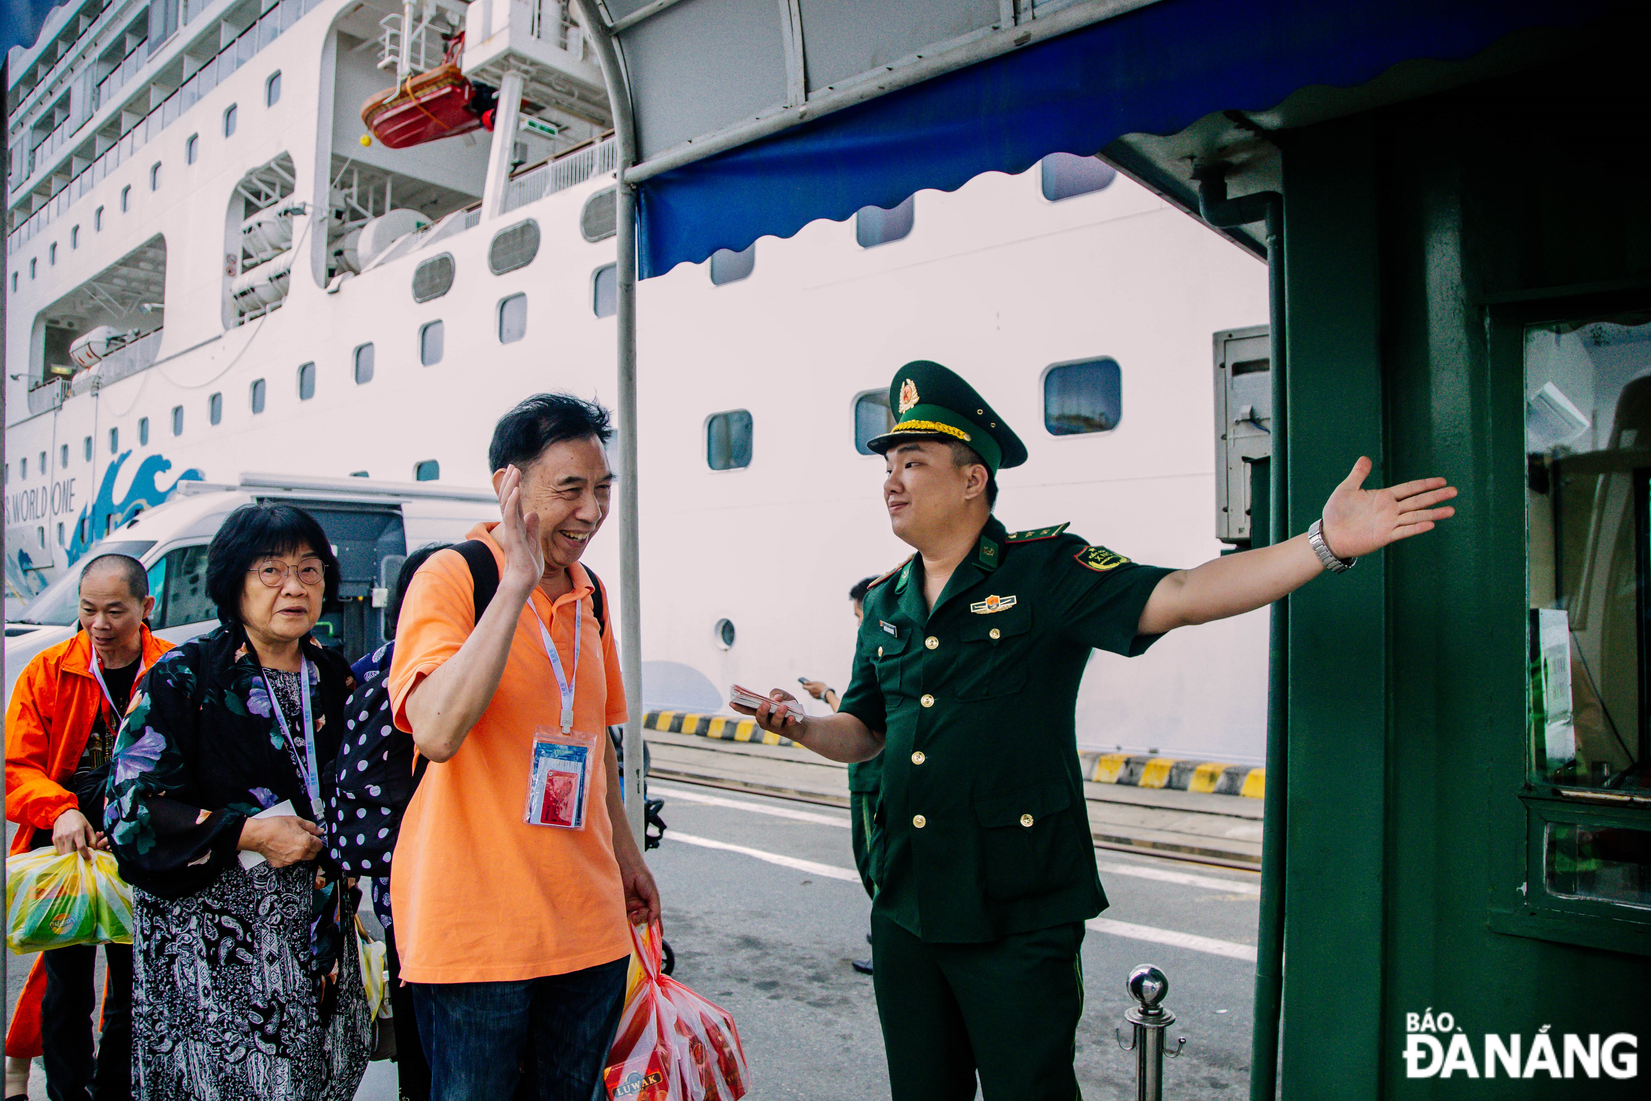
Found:
[{"label": "smiling man in orange polo shirt raising his hand", "polygon": [[[391,858],[401,977],[434,1101],[589,1101],[624,1002],[626,921],[659,891],[626,824],[613,636],[580,555],[608,515],[608,411],[538,395],[494,429],[502,523],[471,532],[499,589],[475,621],[454,550],[413,578],[390,667],[395,721],[429,758]],[[611,602],[606,604],[613,607]]]}]

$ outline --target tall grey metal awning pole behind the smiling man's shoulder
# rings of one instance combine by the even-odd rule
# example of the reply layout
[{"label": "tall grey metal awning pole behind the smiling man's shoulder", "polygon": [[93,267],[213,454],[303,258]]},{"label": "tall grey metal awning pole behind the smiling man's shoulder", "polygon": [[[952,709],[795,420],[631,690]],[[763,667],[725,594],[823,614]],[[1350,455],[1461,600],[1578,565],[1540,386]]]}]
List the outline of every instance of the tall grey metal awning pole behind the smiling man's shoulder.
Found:
[{"label": "tall grey metal awning pole behind the smiling man's shoulder", "polygon": [[[629,721],[624,728],[626,819],[637,848],[646,845],[642,806],[642,533],[637,495],[637,409],[636,409],[636,185],[624,182],[624,172],[636,163],[636,122],[631,117],[631,89],[626,84],[613,35],[593,0],[576,0],[580,26],[603,66],[608,102],[614,116],[614,140],[619,142],[617,188],[614,193],[616,244],[614,264],[619,322],[619,665],[624,672],[624,702]],[[512,129],[515,122],[512,120]]]}]

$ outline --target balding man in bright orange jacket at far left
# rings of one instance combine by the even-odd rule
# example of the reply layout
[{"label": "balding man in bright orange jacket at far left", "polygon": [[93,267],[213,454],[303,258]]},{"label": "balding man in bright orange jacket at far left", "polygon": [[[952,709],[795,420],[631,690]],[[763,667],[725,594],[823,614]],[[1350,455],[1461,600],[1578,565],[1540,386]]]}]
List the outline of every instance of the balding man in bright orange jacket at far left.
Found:
[{"label": "balding man in bright orange jacket at far left", "polygon": [[[43,650],[12,690],[5,716],[5,815],[12,852],[107,848],[102,835],[109,753],[144,670],[172,649],[144,622],[155,606],[144,565],[101,555],[81,569],[81,631]],[[46,834],[50,830],[50,834]],[[102,1040],[92,1061],[89,944],[41,952],[18,999],[7,1055],[43,1055],[51,1101],[132,1096],[132,947],[106,944]],[[36,1040],[38,1037],[38,1040]],[[96,1070],[94,1070],[96,1066]]]}]

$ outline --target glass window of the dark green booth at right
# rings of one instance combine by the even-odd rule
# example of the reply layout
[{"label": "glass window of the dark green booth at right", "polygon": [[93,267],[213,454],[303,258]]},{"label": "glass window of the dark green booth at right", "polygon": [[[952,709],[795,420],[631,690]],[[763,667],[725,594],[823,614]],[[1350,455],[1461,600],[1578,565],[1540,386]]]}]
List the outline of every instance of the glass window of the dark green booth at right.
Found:
[{"label": "glass window of the dark green booth at right", "polygon": [[[1651,314],[1527,325],[1529,782],[1651,801]],[[1559,898],[1651,908],[1651,822],[1544,820]]]}]

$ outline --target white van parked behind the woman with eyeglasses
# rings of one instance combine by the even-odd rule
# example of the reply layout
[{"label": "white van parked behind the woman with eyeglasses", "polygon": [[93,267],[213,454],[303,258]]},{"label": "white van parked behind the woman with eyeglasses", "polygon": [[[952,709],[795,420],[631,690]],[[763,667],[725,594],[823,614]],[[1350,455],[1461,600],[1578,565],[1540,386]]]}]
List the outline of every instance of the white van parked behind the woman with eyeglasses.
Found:
[{"label": "white van parked behind the woman with eyeglasses", "polygon": [[[352,662],[385,642],[383,606],[409,548],[459,543],[475,523],[499,518],[490,489],[243,474],[236,485],[180,482],[165,503],[127,520],[79,561],[109,553],[142,561],[155,598],[150,627],[162,639],[187,642],[218,626],[206,596],[206,545],[233,510],[263,500],[302,507],[332,540],[338,601],[322,612],[315,637]],[[71,565],[7,621],[8,697],[30,659],[79,627],[79,576]]]}]

